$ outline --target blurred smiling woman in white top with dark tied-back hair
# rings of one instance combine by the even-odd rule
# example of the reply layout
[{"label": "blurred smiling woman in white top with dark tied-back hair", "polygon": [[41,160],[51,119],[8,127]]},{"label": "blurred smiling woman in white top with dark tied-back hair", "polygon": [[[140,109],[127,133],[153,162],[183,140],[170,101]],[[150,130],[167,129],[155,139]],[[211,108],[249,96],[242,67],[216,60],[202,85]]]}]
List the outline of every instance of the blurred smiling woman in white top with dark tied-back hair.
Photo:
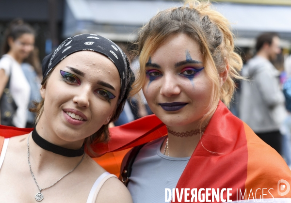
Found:
[{"label": "blurred smiling woman in white top with dark tied-back hair", "polygon": [[[5,31],[2,47],[4,55],[0,59],[0,97],[4,89],[5,91],[9,89],[17,106],[15,115],[12,115],[12,123],[9,125],[16,127],[25,127],[27,123],[31,87],[22,71],[21,63],[28,58],[33,48],[32,27],[20,19],[11,22]],[[7,83],[8,86],[6,86]]]}]

